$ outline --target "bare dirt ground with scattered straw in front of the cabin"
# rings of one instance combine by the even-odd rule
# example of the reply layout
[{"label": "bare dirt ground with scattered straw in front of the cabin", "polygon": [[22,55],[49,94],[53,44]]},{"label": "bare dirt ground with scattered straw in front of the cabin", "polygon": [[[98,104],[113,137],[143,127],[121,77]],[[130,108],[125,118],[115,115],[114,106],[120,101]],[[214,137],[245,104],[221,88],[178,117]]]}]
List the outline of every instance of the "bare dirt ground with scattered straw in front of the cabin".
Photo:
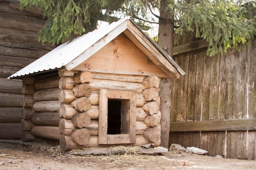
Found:
[{"label": "bare dirt ground with scattered straw in front of the cabin", "polygon": [[0,143],[0,170],[256,170],[256,161],[184,152],[162,155],[76,156],[46,144]]}]

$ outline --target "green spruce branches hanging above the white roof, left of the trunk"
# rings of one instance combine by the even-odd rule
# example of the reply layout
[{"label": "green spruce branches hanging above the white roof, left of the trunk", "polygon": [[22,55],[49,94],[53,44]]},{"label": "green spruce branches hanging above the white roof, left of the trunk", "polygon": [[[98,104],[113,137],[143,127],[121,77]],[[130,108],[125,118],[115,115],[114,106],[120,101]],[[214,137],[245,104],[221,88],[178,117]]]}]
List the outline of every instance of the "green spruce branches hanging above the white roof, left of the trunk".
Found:
[{"label": "green spruce branches hanging above the white roof, left of the trunk", "polygon": [[111,14],[123,0],[21,0],[24,7],[43,8],[47,22],[40,30],[39,40],[60,44],[97,28],[97,20],[102,17],[102,10]]}]

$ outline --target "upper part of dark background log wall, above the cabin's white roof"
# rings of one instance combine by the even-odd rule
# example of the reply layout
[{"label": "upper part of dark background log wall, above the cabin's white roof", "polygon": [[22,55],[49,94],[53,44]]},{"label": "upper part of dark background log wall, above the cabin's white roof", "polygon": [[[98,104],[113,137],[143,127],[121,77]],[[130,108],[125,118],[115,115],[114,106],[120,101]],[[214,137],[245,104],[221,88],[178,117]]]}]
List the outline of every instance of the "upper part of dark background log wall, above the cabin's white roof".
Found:
[{"label": "upper part of dark background log wall, above the cabin's white roof", "polygon": [[19,8],[19,4],[0,1],[0,78],[9,77],[54,48],[37,39],[46,22],[42,11]]}]

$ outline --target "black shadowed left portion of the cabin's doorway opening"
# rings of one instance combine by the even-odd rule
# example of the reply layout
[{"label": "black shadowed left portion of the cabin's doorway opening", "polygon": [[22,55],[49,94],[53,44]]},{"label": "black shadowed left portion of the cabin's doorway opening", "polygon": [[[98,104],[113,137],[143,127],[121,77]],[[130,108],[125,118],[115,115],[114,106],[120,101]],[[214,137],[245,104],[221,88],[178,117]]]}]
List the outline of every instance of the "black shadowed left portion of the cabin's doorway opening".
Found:
[{"label": "black shadowed left portion of the cabin's doorway opening", "polygon": [[108,132],[116,135],[121,133],[121,101],[108,100]]}]

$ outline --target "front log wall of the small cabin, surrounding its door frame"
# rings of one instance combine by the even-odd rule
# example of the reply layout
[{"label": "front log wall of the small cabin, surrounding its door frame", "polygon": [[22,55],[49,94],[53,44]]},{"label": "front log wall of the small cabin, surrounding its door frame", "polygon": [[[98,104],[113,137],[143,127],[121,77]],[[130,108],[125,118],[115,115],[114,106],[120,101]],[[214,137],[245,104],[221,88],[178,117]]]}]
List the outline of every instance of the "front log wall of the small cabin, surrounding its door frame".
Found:
[{"label": "front log wall of the small cabin, surrounding its door frame", "polygon": [[[132,145],[148,143],[160,145],[161,113],[159,112],[158,77],[89,71],[72,73],[65,70],[60,71],[59,75],[61,76],[59,86],[62,89],[59,97],[62,150],[106,146],[98,144],[99,89],[136,91],[136,143]],[[79,92],[79,89],[83,89],[83,93]],[[156,109],[152,108],[155,106],[157,106]]]}]

